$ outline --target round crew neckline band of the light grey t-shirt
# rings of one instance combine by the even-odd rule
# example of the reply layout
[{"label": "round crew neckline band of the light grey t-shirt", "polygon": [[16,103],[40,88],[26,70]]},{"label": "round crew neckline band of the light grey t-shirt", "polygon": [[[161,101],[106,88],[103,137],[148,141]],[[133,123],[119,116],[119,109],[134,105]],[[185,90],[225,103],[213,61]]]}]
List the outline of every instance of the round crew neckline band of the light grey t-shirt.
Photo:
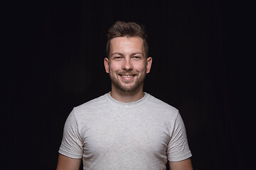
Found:
[{"label": "round crew neckline band of the light grey t-shirt", "polygon": [[121,101],[117,101],[116,99],[112,98],[110,95],[110,92],[107,93],[105,96],[110,103],[112,103],[114,106],[117,106],[119,108],[136,108],[138,106],[142,106],[146,101],[149,99],[150,95],[144,92],[143,98],[139,99],[138,101],[130,102],[130,103],[124,103]]}]

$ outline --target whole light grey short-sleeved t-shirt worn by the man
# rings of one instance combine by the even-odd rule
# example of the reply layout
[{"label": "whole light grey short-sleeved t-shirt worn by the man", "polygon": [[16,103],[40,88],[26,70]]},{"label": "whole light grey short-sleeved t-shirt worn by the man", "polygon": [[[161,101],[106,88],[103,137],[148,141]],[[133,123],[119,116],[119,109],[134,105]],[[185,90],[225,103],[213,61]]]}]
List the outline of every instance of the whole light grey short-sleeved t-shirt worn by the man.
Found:
[{"label": "whole light grey short-sleeved t-shirt worn by the man", "polygon": [[105,94],[75,107],[59,153],[82,158],[86,170],[159,170],[192,155],[178,110],[146,93],[132,103]]}]

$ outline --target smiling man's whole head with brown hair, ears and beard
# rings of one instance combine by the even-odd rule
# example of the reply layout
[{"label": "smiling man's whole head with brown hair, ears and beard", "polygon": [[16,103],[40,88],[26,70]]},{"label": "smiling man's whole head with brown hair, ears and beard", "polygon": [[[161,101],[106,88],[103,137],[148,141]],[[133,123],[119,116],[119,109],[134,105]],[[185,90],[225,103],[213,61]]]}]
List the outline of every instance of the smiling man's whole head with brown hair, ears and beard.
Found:
[{"label": "smiling man's whole head with brown hair, ears and beard", "polygon": [[137,23],[117,22],[109,30],[104,64],[110,74],[112,91],[135,94],[143,91],[146,74],[151,68],[147,56],[146,33]]}]

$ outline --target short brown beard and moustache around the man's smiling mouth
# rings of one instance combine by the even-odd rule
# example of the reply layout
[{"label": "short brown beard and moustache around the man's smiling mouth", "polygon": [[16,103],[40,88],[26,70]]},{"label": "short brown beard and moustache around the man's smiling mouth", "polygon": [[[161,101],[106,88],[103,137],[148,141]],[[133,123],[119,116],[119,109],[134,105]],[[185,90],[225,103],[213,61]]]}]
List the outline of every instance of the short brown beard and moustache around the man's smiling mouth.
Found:
[{"label": "short brown beard and moustache around the man's smiling mouth", "polygon": [[[119,75],[122,74],[130,74],[135,75],[135,79],[133,80],[132,84],[131,82],[124,82],[119,78]],[[136,91],[139,90],[139,87],[142,86],[144,83],[144,79],[146,78],[146,70],[144,72],[110,72],[110,79],[112,81],[112,84],[118,89],[122,94],[134,94]]]}]

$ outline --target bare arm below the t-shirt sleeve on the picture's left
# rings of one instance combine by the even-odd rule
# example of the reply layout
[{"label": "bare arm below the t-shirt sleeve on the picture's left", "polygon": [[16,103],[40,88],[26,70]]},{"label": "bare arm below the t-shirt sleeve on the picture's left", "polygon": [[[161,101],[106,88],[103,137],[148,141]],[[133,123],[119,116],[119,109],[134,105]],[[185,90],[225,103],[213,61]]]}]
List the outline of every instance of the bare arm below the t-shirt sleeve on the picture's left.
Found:
[{"label": "bare arm below the t-shirt sleeve on the picture's left", "polygon": [[56,170],[78,170],[80,168],[80,163],[81,159],[73,159],[60,154]]}]

